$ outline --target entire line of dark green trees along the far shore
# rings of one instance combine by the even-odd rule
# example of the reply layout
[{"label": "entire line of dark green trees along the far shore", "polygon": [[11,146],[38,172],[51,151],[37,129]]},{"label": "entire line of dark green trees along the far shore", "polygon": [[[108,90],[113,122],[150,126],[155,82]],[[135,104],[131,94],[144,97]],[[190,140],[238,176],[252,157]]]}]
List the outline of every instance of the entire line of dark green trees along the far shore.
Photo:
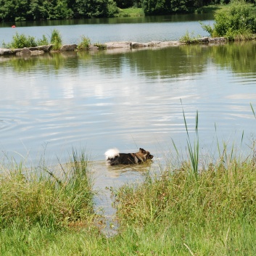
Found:
[{"label": "entire line of dark green trees along the far shore", "polygon": [[[194,12],[232,0],[0,0],[0,21],[65,20],[115,17],[120,9],[139,7],[145,15]],[[255,2],[255,0],[247,0]]]}]

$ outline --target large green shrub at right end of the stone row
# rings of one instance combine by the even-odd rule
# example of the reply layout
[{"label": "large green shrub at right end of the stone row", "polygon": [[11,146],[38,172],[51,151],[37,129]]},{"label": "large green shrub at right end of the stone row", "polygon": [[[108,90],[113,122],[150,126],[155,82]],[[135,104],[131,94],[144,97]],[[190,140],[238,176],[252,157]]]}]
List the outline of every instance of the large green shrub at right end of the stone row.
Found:
[{"label": "large green shrub at right end of the stone row", "polygon": [[256,16],[244,0],[234,0],[229,8],[216,12],[213,28],[201,25],[212,37],[224,36],[229,40],[241,40],[251,38],[256,33]]}]

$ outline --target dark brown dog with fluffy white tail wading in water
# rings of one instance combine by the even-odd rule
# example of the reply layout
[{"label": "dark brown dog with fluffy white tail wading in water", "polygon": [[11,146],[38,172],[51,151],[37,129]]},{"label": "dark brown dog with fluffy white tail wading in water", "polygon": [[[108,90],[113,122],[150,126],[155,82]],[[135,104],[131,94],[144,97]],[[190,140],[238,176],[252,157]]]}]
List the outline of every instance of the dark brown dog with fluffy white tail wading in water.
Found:
[{"label": "dark brown dog with fluffy white tail wading in water", "polygon": [[109,149],[105,152],[107,165],[132,165],[152,159],[154,156],[145,149],[136,153],[120,153],[118,149]]}]

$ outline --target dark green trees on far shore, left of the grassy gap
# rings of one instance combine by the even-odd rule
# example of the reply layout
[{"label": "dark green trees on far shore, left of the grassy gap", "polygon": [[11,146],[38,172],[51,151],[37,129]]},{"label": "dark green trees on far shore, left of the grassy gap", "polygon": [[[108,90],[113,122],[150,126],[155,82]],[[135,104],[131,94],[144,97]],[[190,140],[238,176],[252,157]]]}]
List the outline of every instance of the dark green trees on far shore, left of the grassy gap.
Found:
[{"label": "dark green trees on far shore, left of the grassy gap", "polygon": [[113,0],[0,0],[2,21],[111,17],[115,13]]}]

